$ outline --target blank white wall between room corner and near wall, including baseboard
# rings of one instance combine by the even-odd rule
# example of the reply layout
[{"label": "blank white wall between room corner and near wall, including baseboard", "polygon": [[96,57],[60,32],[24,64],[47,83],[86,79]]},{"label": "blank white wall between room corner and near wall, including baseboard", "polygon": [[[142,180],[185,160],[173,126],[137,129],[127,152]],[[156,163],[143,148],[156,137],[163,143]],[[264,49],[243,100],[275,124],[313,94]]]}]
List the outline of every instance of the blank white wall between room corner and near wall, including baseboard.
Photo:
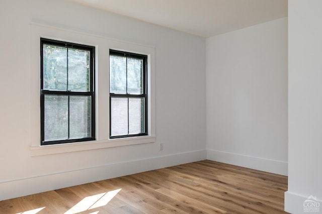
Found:
[{"label": "blank white wall between room corner and near wall, including baseboard", "polygon": [[206,40],[207,159],[287,174],[287,18]]}]

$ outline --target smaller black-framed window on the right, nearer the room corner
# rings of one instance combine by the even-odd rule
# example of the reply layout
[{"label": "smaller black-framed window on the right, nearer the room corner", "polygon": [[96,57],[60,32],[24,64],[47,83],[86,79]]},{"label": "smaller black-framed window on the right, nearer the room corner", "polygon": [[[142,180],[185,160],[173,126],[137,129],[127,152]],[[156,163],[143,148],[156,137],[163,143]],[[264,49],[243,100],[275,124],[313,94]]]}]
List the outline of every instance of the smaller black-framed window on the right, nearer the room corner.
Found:
[{"label": "smaller black-framed window on the right, nearer the room corner", "polygon": [[110,138],[147,135],[147,56],[110,50]]}]

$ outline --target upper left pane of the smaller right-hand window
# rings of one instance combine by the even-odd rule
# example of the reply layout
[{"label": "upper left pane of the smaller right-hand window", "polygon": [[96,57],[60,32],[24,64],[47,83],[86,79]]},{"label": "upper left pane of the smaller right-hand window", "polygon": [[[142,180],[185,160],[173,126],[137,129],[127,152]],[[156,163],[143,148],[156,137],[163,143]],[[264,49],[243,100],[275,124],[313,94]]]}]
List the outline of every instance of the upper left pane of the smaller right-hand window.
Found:
[{"label": "upper left pane of the smaller right-hand window", "polygon": [[110,56],[110,93],[126,94],[126,57]]}]

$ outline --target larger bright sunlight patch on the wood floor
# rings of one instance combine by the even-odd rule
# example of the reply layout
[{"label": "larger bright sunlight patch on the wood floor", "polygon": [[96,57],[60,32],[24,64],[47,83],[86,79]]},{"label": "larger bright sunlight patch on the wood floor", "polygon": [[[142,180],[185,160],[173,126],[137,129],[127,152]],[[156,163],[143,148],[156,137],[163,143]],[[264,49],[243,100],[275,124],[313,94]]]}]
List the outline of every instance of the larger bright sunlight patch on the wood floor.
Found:
[{"label": "larger bright sunlight patch on the wood floor", "polygon": [[[94,209],[97,207],[105,206],[121,189],[116,189],[109,192],[104,192],[96,195],[91,195],[85,197],[83,200],[79,201],[76,205],[71,207],[64,214],[75,214],[78,212],[86,211],[89,209]],[[98,212],[93,212],[98,213]]]}]

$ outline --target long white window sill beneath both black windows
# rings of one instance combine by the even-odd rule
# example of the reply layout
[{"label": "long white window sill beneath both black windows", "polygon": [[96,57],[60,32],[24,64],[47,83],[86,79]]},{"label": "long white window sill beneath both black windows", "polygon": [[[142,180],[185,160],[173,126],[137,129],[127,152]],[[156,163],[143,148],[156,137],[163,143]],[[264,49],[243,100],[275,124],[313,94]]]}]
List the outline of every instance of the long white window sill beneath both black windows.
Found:
[{"label": "long white window sill beneath both black windows", "polygon": [[129,146],[136,144],[154,143],[155,136],[140,136],[132,138],[108,139],[100,141],[87,141],[79,143],[48,145],[48,146],[31,146],[31,156],[52,155],[67,152],[87,151],[94,149],[104,149],[119,146]]}]

